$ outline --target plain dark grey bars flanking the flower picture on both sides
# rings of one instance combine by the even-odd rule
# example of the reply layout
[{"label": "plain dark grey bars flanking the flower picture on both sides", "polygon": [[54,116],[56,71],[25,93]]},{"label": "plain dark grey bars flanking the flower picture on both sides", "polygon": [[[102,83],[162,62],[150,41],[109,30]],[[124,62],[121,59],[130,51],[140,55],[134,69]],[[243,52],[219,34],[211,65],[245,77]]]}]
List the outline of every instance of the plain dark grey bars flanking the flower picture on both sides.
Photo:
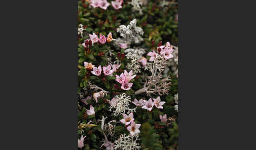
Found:
[{"label": "plain dark grey bars flanking the flower picture on both sides", "polygon": [[[247,2],[179,1],[179,149],[253,149]],[[0,3],[0,149],[77,149],[77,2]]]}]

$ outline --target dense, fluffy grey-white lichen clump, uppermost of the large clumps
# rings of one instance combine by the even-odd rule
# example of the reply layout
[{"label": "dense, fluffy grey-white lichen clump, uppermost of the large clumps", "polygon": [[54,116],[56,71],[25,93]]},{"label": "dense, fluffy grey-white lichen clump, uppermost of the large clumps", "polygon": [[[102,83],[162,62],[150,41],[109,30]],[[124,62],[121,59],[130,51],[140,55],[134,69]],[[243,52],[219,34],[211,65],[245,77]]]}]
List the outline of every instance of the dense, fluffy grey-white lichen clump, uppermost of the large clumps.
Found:
[{"label": "dense, fluffy grey-white lichen clump, uppermost of the large clumps", "polygon": [[135,42],[140,43],[143,41],[143,38],[141,35],[144,34],[141,27],[136,27],[137,20],[133,19],[129,25],[120,25],[119,28],[117,28],[117,33],[120,33],[122,40],[128,41],[128,42]]}]

